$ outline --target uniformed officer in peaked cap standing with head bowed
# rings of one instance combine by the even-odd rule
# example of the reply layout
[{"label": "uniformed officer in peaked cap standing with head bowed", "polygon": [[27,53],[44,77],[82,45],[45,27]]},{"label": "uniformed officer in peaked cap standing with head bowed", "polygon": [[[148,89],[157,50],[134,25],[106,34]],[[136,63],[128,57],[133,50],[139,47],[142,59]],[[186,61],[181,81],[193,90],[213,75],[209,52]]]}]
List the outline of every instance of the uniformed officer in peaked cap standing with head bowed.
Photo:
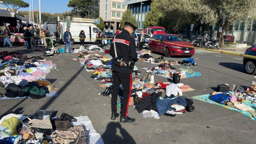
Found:
[{"label": "uniformed officer in peaked cap standing with head bowed", "polygon": [[[117,34],[114,37],[113,42],[110,44],[110,55],[113,57],[112,62],[112,77],[113,77],[113,90],[111,96],[111,120],[116,120],[119,117],[117,113],[117,95],[119,92],[120,84],[123,86],[123,106],[121,107],[120,122],[134,122],[135,118],[127,116],[129,99],[131,96],[132,86],[132,67],[129,65],[131,61],[138,60],[138,54],[136,53],[135,41],[131,37],[134,30],[137,29],[132,23],[125,22],[125,27],[122,33]],[[118,61],[122,61],[118,64]],[[127,67],[120,67],[123,63],[127,64]]]}]

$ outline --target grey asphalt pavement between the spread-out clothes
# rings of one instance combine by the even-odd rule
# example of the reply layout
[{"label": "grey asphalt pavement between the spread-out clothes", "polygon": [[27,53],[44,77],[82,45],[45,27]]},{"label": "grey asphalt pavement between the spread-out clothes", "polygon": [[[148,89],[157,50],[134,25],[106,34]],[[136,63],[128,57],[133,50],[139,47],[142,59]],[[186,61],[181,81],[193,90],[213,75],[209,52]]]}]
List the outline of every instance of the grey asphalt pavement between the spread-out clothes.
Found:
[{"label": "grey asphalt pavement between the spread-out clothes", "polygon": [[[64,45],[56,46],[64,48]],[[79,47],[73,45],[72,47]],[[42,55],[42,52],[16,48],[0,48],[27,54]],[[102,53],[103,54],[103,53]],[[159,53],[153,56],[161,56]],[[132,106],[128,108],[128,116],[135,118],[131,124],[121,124],[119,118],[111,117],[110,98],[98,95],[105,88],[98,85],[100,81],[90,78],[90,73],[80,66],[76,54],[59,54],[46,57],[57,64],[46,79],[59,88],[57,97],[42,99],[7,99],[0,100],[0,117],[8,113],[34,115],[37,110],[50,109],[73,116],[88,116],[94,129],[101,134],[104,143],[127,144],[170,144],[170,143],[255,143],[256,122],[250,118],[221,106],[193,99],[195,110],[175,117],[161,116],[159,120],[143,118]],[[168,60],[181,61],[184,57],[171,57]],[[181,83],[189,85],[195,91],[184,92],[190,98],[196,95],[209,94],[217,90],[218,84],[229,86],[250,86],[256,81],[252,75],[245,73],[242,57],[228,54],[196,50],[192,57],[197,66],[189,66],[201,76],[181,79]],[[138,61],[142,78],[146,70],[153,64]],[[176,69],[182,65],[173,66]],[[172,82],[161,76],[155,76],[155,82]],[[119,109],[120,110],[120,109]]]}]

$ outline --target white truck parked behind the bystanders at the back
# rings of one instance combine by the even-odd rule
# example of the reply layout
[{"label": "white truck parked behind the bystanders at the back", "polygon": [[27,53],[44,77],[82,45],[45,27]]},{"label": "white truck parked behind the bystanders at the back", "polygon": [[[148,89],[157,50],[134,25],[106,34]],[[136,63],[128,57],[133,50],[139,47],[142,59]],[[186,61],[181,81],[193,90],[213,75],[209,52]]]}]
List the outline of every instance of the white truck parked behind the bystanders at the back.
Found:
[{"label": "white truck parked behind the bystanders at the back", "polygon": [[[83,30],[86,38],[96,38],[97,32],[101,31],[95,24],[99,24],[99,19],[75,18],[71,16],[58,16],[57,27],[59,28],[59,38],[63,41],[64,32],[67,30],[67,20],[69,21],[69,31],[72,35],[72,45],[80,42],[79,34]],[[84,42],[94,42],[95,39],[85,39]]]}]

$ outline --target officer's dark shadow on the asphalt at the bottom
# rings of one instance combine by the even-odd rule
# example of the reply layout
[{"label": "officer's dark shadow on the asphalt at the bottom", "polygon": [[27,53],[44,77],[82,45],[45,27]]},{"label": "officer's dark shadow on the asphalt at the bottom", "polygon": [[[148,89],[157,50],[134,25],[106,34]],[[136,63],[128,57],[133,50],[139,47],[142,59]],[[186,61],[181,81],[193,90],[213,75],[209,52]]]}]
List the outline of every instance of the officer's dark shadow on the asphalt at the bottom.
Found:
[{"label": "officer's dark shadow on the asphalt at the bottom", "polygon": [[122,128],[119,122],[110,122],[106,131],[102,134],[102,139],[104,144],[135,144],[132,136]]}]

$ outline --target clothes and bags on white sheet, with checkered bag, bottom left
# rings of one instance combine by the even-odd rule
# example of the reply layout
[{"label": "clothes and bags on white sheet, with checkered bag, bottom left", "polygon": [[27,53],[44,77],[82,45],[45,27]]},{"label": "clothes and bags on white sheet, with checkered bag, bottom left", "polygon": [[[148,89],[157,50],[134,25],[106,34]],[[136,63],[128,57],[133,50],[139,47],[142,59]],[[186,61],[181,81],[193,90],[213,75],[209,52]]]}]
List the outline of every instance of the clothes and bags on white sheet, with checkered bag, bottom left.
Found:
[{"label": "clothes and bags on white sheet, with checkered bag, bottom left", "polygon": [[66,113],[51,117],[51,110],[38,110],[37,117],[8,114],[0,120],[1,144],[103,144],[88,117]]}]

